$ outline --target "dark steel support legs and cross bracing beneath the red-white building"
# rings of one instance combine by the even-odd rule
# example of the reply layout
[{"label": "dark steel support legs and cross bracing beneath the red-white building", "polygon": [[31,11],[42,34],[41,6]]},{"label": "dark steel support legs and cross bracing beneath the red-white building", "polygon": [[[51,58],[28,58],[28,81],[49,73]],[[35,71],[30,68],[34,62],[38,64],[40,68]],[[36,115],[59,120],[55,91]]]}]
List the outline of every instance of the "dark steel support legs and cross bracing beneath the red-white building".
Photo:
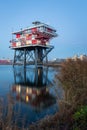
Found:
[{"label": "dark steel support legs and cross bracing beneath the red-white building", "polygon": [[35,66],[42,65],[43,61],[47,63],[48,53],[53,49],[53,46],[34,46],[31,48],[16,48],[14,52],[13,65],[22,64],[24,67],[28,64]]}]

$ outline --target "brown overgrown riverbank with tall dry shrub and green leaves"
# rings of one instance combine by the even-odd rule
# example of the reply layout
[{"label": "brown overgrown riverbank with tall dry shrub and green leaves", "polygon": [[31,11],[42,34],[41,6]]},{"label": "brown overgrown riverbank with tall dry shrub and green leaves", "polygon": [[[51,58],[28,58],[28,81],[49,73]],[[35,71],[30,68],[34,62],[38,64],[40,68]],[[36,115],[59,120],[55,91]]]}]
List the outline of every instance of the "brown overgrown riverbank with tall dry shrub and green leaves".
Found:
[{"label": "brown overgrown riverbank with tall dry shrub and green leaves", "polygon": [[65,90],[64,99],[59,102],[59,112],[31,125],[29,130],[86,130],[87,61],[65,61],[57,79]]}]

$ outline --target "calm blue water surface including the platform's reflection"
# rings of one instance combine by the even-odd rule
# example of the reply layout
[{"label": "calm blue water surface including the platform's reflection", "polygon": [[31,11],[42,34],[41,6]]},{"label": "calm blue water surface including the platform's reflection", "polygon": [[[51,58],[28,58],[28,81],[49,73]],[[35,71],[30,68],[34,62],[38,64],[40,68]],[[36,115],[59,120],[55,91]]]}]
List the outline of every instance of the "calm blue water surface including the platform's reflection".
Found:
[{"label": "calm blue water surface including the platform's reflection", "polygon": [[[3,106],[3,119],[9,118],[12,123],[27,127],[58,111],[53,82],[55,73],[52,68],[24,69],[0,65],[0,105]],[[61,90],[58,92],[60,94]]]}]

